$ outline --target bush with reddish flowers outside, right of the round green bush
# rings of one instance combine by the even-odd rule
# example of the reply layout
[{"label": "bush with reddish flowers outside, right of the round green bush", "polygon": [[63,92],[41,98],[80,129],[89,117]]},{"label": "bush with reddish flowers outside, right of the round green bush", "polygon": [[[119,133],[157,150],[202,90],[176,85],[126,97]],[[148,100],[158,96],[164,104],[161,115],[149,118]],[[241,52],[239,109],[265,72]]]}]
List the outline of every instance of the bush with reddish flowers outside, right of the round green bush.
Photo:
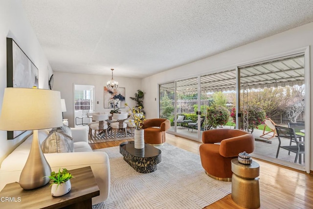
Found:
[{"label": "bush with reddish flowers outside, right of the round green bush", "polygon": [[[244,112],[243,109],[240,110],[241,113]],[[257,128],[260,124],[262,124],[265,120],[265,112],[262,110],[261,107],[257,105],[249,106],[249,110],[245,110],[245,116],[248,115],[248,129],[253,132],[254,128]],[[231,110],[230,116],[233,118],[234,123],[236,122],[236,108]],[[240,126],[243,127],[243,119],[240,122]]]}]

